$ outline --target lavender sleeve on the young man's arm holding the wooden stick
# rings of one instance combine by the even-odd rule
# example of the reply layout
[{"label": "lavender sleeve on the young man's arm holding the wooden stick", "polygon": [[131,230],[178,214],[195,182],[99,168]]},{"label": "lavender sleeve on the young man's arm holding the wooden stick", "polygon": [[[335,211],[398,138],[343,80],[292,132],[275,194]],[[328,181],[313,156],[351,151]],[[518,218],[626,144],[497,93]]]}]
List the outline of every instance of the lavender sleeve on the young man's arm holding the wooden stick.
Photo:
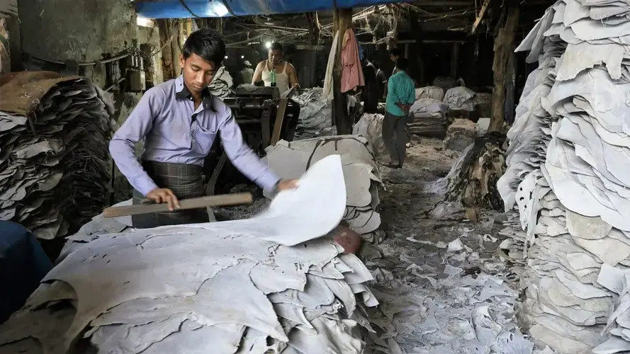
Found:
[{"label": "lavender sleeve on the young man's arm holding the wooden stick", "polygon": [[133,188],[142,195],[147,195],[157,188],[157,185],[142,169],[135,156],[135,144],[144,139],[151,130],[153,118],[164,107],[165,97],[162,89],[154,88],[147,91],[109,143],[109,152],[116,166]]}]

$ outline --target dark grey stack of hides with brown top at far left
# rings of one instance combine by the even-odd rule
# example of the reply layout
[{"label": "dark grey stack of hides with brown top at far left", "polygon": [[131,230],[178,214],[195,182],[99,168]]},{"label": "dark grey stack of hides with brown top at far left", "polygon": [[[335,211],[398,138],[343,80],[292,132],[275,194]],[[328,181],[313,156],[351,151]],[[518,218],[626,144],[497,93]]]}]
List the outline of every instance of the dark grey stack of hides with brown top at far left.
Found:
[{"label": "dark grey stack of hides with brown top at far left", "polygon": [[0,82],[0,219],[64,236],[109,202],[113,103],[79,76],[21,72]]}]

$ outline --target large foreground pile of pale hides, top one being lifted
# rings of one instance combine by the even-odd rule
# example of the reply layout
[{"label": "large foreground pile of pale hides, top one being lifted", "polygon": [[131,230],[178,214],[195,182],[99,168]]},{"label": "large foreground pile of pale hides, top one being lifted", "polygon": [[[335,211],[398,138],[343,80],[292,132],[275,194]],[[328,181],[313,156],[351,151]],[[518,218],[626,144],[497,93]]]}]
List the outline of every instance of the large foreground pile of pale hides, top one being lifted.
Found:
[{"label": "large foreground pile of pale hides, top one being lifted", "polygon": [[362,353],[372,276],[320,237],[344,214],[343,173],[327,157],[254,219],[80,246],[0,326],[0,352]]}]

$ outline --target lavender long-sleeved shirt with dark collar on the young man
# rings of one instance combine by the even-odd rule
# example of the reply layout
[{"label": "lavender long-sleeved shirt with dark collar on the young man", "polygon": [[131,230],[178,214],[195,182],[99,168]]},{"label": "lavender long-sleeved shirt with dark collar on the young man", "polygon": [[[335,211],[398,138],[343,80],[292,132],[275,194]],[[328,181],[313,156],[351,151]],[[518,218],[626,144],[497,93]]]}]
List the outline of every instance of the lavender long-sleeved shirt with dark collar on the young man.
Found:
[{"label": "lavender long-sleeved shirt with dark collar on the young man", "polygon": [[210,93],[195,110],[182,76],[142,96],[111,139],[109,152],[133,188],[147,195],[159,186],[142,169],[135,156],[135,143],[144,139],[142,161],[201,166],[217,135],[239,171],[261,188],[274,188],[278,176],[245,144],[232,110]]}]

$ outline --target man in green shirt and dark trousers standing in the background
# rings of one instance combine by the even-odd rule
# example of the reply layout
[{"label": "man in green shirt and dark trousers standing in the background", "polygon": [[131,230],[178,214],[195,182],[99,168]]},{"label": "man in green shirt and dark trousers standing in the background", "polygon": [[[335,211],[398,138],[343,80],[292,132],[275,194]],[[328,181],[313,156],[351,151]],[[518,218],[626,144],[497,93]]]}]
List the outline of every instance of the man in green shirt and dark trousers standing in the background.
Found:
[{"label": "man in green shirt and dark trousers standing in the background", "polygon": [[383,120],[383,142],[392,156],[390,167],[400,169],[405,160],[407,115],[415,102],[415,84],[407,74],[407,59],[396,62],[396,73],[387,83],[387,106]]}]

